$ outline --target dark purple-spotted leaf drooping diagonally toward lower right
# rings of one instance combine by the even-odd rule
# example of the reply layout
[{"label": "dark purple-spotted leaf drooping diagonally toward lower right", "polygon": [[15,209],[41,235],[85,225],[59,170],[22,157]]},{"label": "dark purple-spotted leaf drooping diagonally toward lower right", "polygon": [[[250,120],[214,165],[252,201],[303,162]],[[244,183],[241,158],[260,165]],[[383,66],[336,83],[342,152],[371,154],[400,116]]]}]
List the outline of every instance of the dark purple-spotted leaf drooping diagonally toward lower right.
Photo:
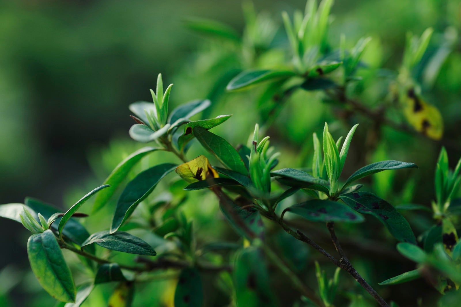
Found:
[{"label": "dark purple-spotted leaf drooping diagonally toward lower right", "polygon": [[355,192],[341,195],[339,198],[357,212],[372,214],[397,240],[416,244],[416,238],[408,221],[384,199],[370,192]]}]

